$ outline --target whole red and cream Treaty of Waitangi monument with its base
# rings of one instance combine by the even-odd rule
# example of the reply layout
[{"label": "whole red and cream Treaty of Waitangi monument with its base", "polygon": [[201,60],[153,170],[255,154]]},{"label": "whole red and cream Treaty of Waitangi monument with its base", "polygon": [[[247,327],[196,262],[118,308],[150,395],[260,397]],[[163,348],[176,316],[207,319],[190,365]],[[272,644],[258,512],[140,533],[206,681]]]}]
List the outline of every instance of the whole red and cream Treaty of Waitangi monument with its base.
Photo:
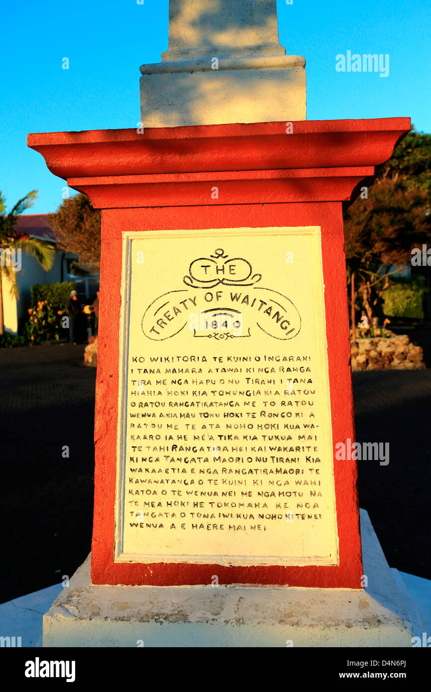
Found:
[{"label": "whole red and cream Treaty of Waitangi monument with its base", "polygon": [[174,0],[170,21],[145,127],[28,138],[102,209],[91,575],[44,645],[410,646],[334,452],[354,439],[342,202],[410,120],[305,121],[275,1]]}]

